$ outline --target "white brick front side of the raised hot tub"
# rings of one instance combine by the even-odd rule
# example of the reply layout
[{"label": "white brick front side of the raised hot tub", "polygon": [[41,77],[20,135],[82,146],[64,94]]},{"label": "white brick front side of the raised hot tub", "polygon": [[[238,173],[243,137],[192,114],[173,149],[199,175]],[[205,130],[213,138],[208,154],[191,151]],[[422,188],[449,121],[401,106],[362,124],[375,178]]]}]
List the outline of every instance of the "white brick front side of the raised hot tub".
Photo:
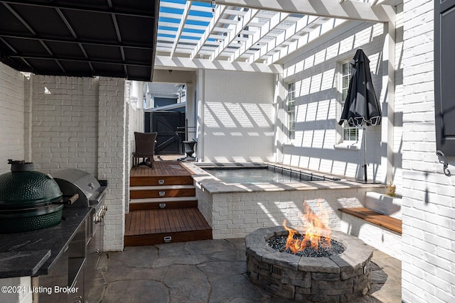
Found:
[{"label": "white brick front side of the raised hot tub", "polygon": [[[304,201],[319,215],[321,203],[329,226],[338,229],[341,226],[338,208],[363,206],[360,201],[365,200],[365,193],[366,189],[208,194],[196,186],[198,208],[212,226],[214,238],[243,237],[257,228],[281,225],[284,219],[289,226],[302,226]],[[339,199],[344,194],[348,198]],[[225,201],[225,197],[230,197],[230,201]]]}]

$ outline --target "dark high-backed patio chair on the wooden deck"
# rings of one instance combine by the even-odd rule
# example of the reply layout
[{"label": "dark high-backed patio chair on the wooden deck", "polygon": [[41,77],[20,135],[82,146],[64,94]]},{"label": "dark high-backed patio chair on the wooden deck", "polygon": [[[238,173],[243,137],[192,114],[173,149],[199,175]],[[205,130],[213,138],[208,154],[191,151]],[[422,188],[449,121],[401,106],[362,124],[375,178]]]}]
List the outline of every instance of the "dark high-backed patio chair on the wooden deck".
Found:
[{"label": "dark high-backed patio chair on the wooden deck", "polygon": [[[133,153],[133,168],[136,169],[139,165],[146,165],[154,168],[155,143],[158,133],[138,133],[134,132],[136,141],[136,149]],[[139,159],[142,158],[142,162]],[[147,158],[149,162],[147,162]]]}]

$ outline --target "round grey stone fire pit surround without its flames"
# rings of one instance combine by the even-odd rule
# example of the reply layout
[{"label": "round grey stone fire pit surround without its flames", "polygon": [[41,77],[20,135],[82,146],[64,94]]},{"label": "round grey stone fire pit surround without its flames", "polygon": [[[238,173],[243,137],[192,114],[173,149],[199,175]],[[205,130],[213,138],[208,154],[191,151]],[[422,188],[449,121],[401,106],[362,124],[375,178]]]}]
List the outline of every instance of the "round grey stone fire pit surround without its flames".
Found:
[{"label": "round grey stone fire pit surround without its flames", "polygon": [[351,302],[371,287],[373,249],[358,238],[332,231],[343,244],[340,255],[310,258],[281,253],[267,244],[274,236],[286,236],[282,226],[260,228],[245,237],[247,274],[267,292],[296,302]]}]

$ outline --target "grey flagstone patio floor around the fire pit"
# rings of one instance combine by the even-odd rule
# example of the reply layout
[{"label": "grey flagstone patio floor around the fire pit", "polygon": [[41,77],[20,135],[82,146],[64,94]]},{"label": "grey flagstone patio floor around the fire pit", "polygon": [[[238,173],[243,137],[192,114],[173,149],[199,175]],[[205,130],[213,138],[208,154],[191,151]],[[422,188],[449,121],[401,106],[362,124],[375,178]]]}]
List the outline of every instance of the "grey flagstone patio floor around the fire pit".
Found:
[{"label": "grey flagstone patio floor around the fire pit", "polygon": [[[401,262],[374,250],[372,290],[363,302],[401,302]],[[289,302],[246,275],[245,239],[127,247],[102,256],[88,302]]]}]

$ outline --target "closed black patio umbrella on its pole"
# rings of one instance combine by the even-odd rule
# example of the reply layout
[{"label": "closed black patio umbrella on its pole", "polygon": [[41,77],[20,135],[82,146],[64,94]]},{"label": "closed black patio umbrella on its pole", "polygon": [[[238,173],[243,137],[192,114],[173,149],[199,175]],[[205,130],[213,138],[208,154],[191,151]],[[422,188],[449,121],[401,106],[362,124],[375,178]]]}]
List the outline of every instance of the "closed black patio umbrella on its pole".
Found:
[{"label": "closed black patio umbrella on its pole", "polygon": [[367,182],[367,151],[365,126],[380,125],[381,109],[376,98],[373,82],[371,81],[370,60],[358,49],[351,60],[352,72],[350,75],[348,94],[343,107],[339,124],[344,121],[349,126],[363,126],[363,148],[365,152],[364,179]]}]

